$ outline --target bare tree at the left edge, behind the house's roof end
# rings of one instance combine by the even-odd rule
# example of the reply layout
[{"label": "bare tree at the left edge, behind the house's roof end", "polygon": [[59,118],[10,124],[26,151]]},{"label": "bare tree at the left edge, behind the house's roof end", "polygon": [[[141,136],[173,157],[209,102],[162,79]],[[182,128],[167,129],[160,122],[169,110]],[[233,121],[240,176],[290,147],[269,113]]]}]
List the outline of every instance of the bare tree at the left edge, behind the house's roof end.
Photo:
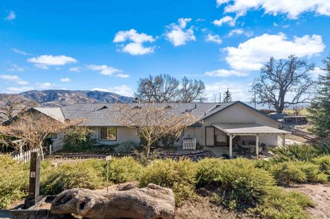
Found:
[{"label": "bare tree at the left edge, behind the house's roof end", "polygon": [[20,95],[3,93],[0,98],[0,122],[12,119],[32,106],[36,106],[36,103]]}]

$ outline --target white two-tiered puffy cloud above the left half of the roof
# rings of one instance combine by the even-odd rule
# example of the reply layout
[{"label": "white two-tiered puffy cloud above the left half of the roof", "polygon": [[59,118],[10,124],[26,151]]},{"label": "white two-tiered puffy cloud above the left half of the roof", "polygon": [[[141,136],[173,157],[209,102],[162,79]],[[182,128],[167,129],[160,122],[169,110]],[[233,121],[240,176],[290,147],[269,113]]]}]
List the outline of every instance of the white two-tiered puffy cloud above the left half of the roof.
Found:
[{"label": "white two-tiered puffy cloud above the left half of the roof", "polygon": [[115,34],[115,38],[113,39],[113,43],[124,43],[126,41],[131,41],[126,45],[121,45],[120,51],[129,53],[133,56],[144,55],[153,53],[155,47],[144,47],[143,43],[149,42],[153,43],[155,39],[151,35],[147,35],[144,33],[137,33],[136,30],[126,30],[119,31]]}]

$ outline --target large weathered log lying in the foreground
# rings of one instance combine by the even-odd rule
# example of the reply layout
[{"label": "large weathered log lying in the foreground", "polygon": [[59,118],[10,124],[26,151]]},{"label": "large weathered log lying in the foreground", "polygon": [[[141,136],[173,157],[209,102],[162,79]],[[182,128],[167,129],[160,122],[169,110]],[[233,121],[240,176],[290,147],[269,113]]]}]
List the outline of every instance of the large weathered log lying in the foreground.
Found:
[{"label": "large weathered log lying in the foreground", "polygon": [[[120,187],[119,187],[120,188]],[[175,215],[172,189],[149,184],[144,188],[122,187],[124,191],[69,189],[52,202],[52,214],[78,214],[84,218],[170,219]]]}]

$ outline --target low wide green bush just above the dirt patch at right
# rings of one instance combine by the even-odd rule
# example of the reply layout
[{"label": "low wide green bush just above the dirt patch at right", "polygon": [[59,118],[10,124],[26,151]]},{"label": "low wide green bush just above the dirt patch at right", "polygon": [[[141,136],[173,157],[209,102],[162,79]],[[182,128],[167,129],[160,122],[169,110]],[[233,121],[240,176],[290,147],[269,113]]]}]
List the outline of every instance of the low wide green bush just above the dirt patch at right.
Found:
[{"label": "low wide green bush just above the dirt patch at right", "polygon": [[319,171],[318,165],[303,161],[277,163],[270,168],[270,172],[281,185],[327,181],[327,176]]}]

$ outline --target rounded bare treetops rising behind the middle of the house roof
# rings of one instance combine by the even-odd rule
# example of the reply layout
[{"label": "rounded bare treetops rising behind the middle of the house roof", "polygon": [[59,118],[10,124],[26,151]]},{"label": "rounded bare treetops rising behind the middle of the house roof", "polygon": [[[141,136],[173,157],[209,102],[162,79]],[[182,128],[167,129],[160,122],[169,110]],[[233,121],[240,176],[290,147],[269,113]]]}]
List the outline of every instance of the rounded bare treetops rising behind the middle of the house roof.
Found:
[{"label": "rounded bare treetops rising behind the middle of the house roof", "polygon": [[167,74],[140,78],[135,97],[144,102],[203,101],[205,84],[201,80],[184,77],[181,83]]}]

